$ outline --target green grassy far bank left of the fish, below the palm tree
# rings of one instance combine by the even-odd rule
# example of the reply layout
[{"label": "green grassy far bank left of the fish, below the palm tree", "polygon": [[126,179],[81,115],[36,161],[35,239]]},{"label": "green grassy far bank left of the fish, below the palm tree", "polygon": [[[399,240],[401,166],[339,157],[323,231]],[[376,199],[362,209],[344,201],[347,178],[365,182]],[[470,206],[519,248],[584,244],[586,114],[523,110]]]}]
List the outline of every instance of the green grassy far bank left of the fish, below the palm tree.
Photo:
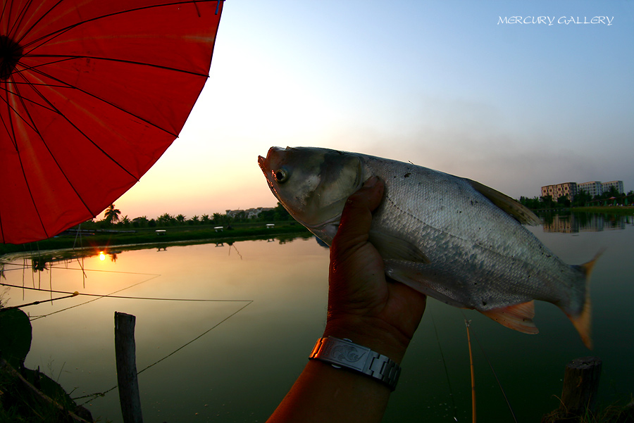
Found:
[{"label": "green grassy far bank left of the fish, below the palm tree", "polygon": [[[156,229],[162,229],[161,235]],[[223,241],[228,239],[245,239],[251,237],[273,237],[284,234],[307,234],[308,229],[297,222],[279,222],[275,227],[267,228],[263,223],[237,224],[232,229],[224,228],[216,231],[213,226],[182,226],[142,228],[130,231],[105,232],[94,230],[81,236],[81,241],[75,234],[60,234],[44,241],[29,244],[0,244],[0,255],[7,253],[23,253],[27,251],[58,250],[62,248],[112,248],[130,244],[170,244],[179,241]]]}]

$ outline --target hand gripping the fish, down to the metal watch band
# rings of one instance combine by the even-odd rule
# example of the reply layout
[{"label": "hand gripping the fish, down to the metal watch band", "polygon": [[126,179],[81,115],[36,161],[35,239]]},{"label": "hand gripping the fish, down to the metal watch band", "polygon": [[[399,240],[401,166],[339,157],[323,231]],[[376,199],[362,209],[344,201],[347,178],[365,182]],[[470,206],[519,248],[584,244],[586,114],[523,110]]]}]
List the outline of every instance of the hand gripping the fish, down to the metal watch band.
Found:
[{"label": "hand gripping the fish, down to the metal watch band", "polygon": [[421,322],[426,296],[385,277],[368,240],[384,185],[371,177],[348,198],[330,246],[328,320],[324,336],[348,338],[400,363]]}]

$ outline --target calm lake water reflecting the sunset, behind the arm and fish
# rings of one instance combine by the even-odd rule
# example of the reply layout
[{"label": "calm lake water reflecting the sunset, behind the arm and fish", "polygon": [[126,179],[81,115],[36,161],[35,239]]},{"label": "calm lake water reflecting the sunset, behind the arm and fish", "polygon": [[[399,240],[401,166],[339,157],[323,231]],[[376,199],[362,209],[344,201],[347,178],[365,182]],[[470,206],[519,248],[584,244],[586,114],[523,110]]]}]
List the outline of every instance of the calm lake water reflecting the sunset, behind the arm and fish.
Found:
[{"label": "calm lake water reflecting the sunset, behind the arm and fish", "polygon": [[[549,303],[537,302],[540,334],[531,336],[430,299],[385,422],[471,419],[465,318],[472,320],[481,421],[513,421],[490,366],[518,422],[539,421],[557,408],[564,367],[574,358],[602,358],[602,403],[634,392],[632,217],[557,217],[531,230],[566,263],[585,263],[607,248],[592,274],[594,351]],[[112,295],[23,308],[33,328],[26,367],[39,367],[73,398],[83,397],[77,403],[101,421],[122,422],[114,388],[115,311],[137,319],[146,422],[265,421],[323,332],[328,250],[314,238],[106,251],[102,258],[58,260],[37,272],[30,260],[19,258],[4,264],[1,281]],[[19,305],[58,296],[63,293],[7,288],[2,297],[7,305]]]}]

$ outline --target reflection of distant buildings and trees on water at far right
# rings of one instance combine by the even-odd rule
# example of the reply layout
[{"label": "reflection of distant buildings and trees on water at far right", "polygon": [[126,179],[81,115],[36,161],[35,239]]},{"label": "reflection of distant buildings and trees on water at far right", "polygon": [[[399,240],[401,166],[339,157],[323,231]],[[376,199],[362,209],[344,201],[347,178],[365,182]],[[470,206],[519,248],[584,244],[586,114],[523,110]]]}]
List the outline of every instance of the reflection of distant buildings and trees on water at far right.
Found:
[{"label": "reflection of distant buildings and trees on water at far right", "polygon": [[609,215],[604,213],[569,213],[545,217],[544,232],[600,232],[612,229],[625,229],[634,222],[634,216]]}]

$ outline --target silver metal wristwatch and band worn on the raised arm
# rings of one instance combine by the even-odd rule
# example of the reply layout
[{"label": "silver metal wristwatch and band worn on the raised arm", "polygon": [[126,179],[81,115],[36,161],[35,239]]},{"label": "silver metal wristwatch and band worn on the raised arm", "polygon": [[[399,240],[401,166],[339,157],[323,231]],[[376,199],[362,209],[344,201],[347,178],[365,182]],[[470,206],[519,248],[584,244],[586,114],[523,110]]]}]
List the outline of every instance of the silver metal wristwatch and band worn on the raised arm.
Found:
[{"label": "silver metal wristwatch and band worn on the raised arm", "polygon": [[382,381],[392,391],[401,375],[401,367],[385,355],[357,345],[349,339],[334,336],[318,339],[309,358],[328,362],[335,367],[356,370]]}]

